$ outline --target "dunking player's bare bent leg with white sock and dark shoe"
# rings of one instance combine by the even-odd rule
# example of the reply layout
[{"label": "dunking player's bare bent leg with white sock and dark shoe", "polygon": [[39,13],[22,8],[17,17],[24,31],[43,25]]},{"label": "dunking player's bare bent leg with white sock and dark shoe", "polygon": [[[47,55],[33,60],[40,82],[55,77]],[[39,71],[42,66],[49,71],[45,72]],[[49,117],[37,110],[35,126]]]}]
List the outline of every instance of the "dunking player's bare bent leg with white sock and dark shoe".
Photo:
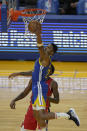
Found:
[{"label": "dunking player's bare bent leg with white sock and dark shoe", "polygon": [[37,119],[40,127],[46,127],[46,122],[45,120],[50,120],[50,119],[57,119],[57,118],[67,118],[69,120],[73,120],[77,126],[80,125],[79,118],[75,112],[74,109],[70,109],[67,113],[60,113],[60,112],[48,112],[46,113],[45,110],[39,110],[35,111],[34,110],[34,115],[37,113],[37,116],[35,118]]}]

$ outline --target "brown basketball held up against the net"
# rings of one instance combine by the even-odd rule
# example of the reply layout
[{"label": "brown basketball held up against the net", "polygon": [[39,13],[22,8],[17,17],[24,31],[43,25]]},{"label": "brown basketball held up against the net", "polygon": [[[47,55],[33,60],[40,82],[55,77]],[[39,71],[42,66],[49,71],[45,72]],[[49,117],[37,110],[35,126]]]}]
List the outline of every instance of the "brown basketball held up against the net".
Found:
[{"label": "brown basketball held up against the net", "polygon": [[41,24],[40,24],[40,22],[37,21],[37,20],[30,21],[29,24],[28,24],[28,30],[31,33],[34,33],[34,34],[36,34],[37,32],[41,34]]}]

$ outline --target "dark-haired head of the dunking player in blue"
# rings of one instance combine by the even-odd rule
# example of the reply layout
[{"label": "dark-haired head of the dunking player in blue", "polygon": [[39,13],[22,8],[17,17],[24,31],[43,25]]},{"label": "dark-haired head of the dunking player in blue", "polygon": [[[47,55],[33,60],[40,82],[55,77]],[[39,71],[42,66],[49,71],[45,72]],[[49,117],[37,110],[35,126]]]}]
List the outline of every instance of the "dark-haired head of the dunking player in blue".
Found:
[{"label": "dark-haired head of the dunking player in blue", "polygon": [[46,47],[46,52],[48,55],[53,56],[57,51],[57,46],[53,43],[48,44],[48,46]]}]

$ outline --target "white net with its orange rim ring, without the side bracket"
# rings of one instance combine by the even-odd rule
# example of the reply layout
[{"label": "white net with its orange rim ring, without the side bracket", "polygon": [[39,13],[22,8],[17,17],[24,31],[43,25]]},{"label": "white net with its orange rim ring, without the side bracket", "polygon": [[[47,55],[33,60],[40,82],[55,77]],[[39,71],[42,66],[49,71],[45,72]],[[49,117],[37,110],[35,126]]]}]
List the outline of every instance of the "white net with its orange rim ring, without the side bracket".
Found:
[{"label": "white net with its orange rim ring, without the side bracket", "polygon": [[32,39],[34,41],[34,39],[36,39],[36,35],[31,33],[28,30],[28,24],[32,20],[37,20],[40,23],[43,23],[46,11],[42,10],[42,9],[31,9],[29,11],[25,10],[24,12],[22,12],[22,14],[24,15],[24,16],[22,16],[22,18],[23,18],[23,22],[25,24],[25,34],[24,34],[24,36],[25,36],[25,38],[29,38],[29,39]]}]

